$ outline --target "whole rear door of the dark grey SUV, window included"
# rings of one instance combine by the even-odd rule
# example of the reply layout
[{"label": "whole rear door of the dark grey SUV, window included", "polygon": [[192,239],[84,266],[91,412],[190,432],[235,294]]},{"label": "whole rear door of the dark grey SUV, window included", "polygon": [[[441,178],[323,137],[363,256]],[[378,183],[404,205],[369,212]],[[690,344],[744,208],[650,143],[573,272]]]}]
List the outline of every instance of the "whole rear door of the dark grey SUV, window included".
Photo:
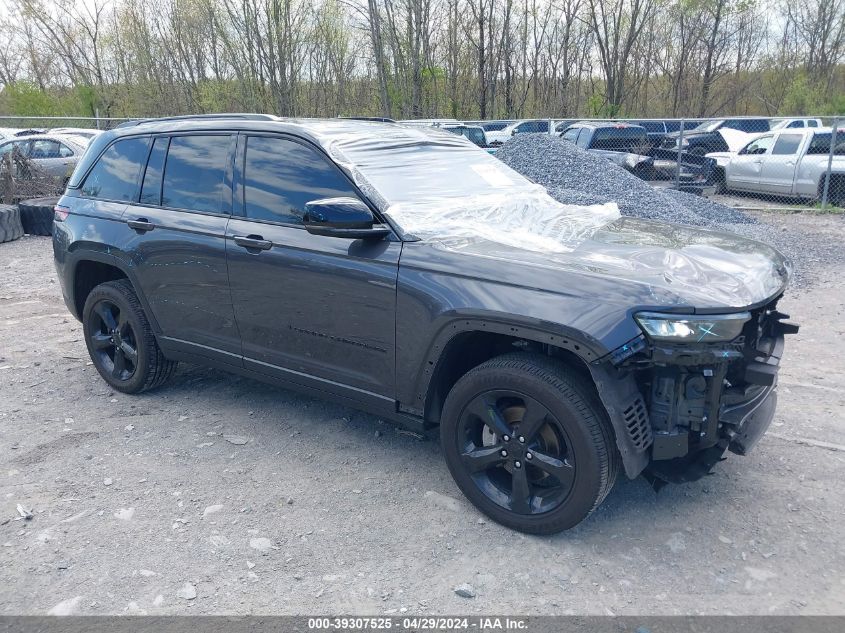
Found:
[{"label": "whole rear door of the dark grey SUV, window included", "polygon": [[[240,365],[226,266],[235,137],[201,133],[155,139],[139,199],[123,215],[126,250],[150,309],[170,339]],[[163,208],[179,205],[183,208]],[[182,346],[185,347],[184,345]]]}]

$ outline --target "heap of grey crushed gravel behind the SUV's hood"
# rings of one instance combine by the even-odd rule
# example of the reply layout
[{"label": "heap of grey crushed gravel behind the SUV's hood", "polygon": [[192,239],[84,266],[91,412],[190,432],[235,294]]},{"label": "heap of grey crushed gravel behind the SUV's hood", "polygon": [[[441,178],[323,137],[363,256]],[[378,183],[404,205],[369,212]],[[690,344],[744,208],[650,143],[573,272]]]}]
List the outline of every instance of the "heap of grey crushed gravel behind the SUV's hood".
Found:
[{"label": "heap of grey crushed gravel behind the SUV's hood", "polygon": [[691,226],[753,224],[754,218],[680,191],[659,190],[606,158],[545,134],[519,134],[497,158],[565,204],[615,202],[623,215]]}]

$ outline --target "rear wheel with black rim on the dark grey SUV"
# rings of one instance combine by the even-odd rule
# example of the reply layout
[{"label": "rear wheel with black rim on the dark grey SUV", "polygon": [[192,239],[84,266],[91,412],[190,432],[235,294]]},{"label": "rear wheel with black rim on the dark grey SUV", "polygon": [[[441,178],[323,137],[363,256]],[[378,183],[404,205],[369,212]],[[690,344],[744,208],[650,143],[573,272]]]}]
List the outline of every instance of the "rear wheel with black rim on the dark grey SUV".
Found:
[{"label": "rear wheel with black rim on the dark grey SUV", "polygon": [[161,353],[128,280],[109,281],[91,291],[82,311],[82,327],[94,367],[114,389],[141,393],[173,375],[176,362]]}]

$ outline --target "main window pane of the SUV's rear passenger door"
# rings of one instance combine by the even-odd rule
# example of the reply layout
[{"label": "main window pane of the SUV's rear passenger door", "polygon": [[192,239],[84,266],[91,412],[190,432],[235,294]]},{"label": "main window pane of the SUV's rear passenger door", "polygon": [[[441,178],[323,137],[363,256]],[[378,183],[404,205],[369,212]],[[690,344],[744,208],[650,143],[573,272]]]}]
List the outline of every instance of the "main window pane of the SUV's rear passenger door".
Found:
[{"label": "main window pane of the SUV's rear passenger door", "polygon": [[223,208],[232,137],[174,136],[164,167],[161,205],[199,213],[228,213]]}]

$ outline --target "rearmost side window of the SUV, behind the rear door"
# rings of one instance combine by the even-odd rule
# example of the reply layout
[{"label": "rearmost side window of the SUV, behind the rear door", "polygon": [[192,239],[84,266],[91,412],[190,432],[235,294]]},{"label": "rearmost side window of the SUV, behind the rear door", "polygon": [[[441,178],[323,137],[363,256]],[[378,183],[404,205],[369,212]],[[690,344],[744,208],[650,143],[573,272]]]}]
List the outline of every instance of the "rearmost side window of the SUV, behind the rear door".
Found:
[{"label": "rearmost side window of the SUV, behind the rear door", "polygon": [[85,178],[82,195],[101,200],[135,200],[149,142],[148,136],[141,136],[112,143]]}]

